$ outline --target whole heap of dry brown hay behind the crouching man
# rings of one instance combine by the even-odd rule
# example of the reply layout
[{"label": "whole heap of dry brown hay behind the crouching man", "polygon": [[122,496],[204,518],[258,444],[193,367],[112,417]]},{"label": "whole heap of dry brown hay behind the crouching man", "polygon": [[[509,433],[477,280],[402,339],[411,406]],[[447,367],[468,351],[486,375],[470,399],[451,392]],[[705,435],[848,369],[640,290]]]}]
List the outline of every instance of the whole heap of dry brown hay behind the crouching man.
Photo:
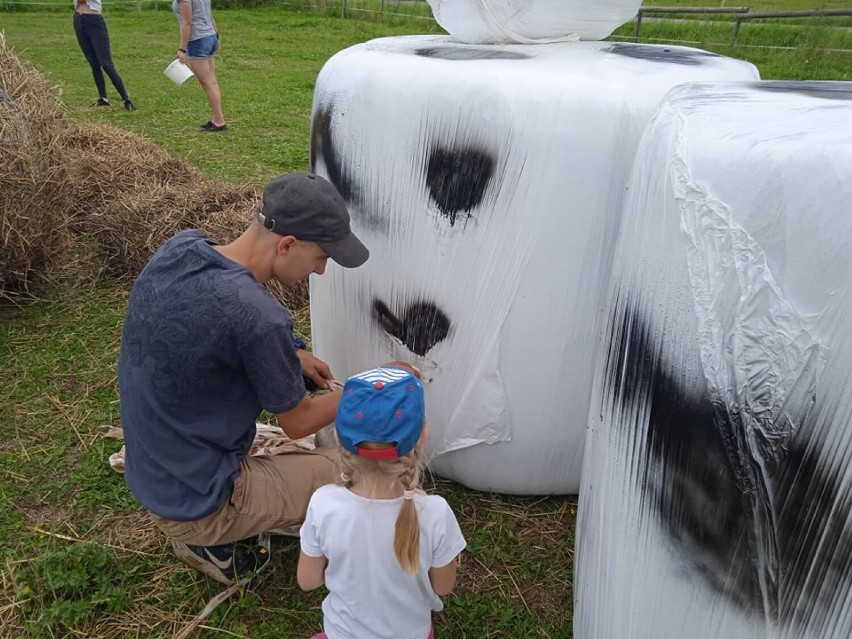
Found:
[{"label": "whole heap of dry brown hay behind the crouching man", "polygon": [[[36,280],[135,277],[182,229],[227,243],[246,228],[254,187],[206,180],[123,129],[77,125],[57,95],[0,34],[0,297]],[[270,290],[294,312],[308,307],[306,281]]]}]

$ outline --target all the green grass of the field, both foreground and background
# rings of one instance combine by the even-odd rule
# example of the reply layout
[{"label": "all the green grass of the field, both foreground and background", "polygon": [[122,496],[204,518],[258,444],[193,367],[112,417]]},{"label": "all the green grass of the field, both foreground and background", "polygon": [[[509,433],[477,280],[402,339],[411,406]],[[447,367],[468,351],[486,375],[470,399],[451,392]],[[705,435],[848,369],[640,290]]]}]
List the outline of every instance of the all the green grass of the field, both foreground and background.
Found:
[{"label": "all the green grass of the field, both foreground and background", "polygon": [[[67,4],[62,12],[0,13],[0,28],[56,84],[74,118],[147,136],[207,177],[257,186],[306,167],[314,79],[331,55],[381,35],[439,31],[422,21],[380,24],[280,7],[221,11],[219,79],[232,130],[205,135],[197,130],[207,119],[197,84],[178,89],[162,74],[177,44],[170,11],[116,6],[113,12],[107,3],[116,65],[139,110],[91,111],[94,87]],[[783,8],[840,4],[788,0]],[[766,78],[852,79],[850,54],[825,50],[852,48],[843,32],[773,25],[744,33],[732,51],[729,29],[706,21],[649,22],[643,38],[733,53],[758,64]],[[616,37],[631,33],[627,25]],[[45,291],[24,307],[0,304],[3,639],[172,637],[219,590],[174,560],[107,464],[119,447],[103,434],[118,425],[115,361],[127,291],[127,282],[112,281]],[[469,541],[459,586],[437,619],[438,636],[570,637],[576,500],[508,498],[436,481]],[[296,588],[296,549],[292,540],[276,540],[271,570],[217,609],[196,636],[282,639],[315,632],[321,595]]]}]

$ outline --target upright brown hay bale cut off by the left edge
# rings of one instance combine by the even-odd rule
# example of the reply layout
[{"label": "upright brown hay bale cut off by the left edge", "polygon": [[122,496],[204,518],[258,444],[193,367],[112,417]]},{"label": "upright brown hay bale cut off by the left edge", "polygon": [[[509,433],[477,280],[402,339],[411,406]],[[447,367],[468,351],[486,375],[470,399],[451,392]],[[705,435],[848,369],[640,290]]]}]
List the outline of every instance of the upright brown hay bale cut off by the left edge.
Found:
[{"label": "upright brown hay bale cut off by the left edge", "polygon": [[54,153],[66,126],[56,91],[0,33],[0,297],[30,293],[68,246]]}]

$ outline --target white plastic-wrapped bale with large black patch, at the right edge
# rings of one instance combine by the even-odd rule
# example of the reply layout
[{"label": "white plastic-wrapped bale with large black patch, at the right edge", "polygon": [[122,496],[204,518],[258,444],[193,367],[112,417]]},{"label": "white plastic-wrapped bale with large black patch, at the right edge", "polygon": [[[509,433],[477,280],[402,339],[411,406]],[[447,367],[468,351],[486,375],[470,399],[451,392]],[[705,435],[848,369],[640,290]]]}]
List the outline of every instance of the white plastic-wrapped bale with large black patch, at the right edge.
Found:
[{"label": "white plastic-wrapped bale with large black patch, at the right edge", "polygon": [[584,639],[852,636],[852,83],[684,85],[613,261]]}]

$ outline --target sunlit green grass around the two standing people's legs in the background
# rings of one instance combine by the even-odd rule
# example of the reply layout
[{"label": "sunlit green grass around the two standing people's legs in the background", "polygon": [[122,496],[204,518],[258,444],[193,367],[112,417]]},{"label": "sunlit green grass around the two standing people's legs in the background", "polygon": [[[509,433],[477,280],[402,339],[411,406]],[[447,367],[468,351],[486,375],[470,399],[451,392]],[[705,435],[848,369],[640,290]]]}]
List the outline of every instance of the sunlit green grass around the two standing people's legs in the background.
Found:
[{"label": "sunlit green grass around the two standing people's legs in the background", "polygon": [[335,52],[411,27],[285,12],[274,7],[222,11],[216,15],[222,37],[217,62],[226,136],[200,135],[209,119],[197,82],[176,87],[163,70],[178,47],[171,11],[106,12],[113,60],[138,111],[89,112],[97,98],[91,71],[74,36],[71,12],[0,14],[7,42],[62,89],[68,110],[78,118],[127,128],[153,138],[188,158],[209,177],[252,184],[308,163],[308,131],[314,80]]}]

